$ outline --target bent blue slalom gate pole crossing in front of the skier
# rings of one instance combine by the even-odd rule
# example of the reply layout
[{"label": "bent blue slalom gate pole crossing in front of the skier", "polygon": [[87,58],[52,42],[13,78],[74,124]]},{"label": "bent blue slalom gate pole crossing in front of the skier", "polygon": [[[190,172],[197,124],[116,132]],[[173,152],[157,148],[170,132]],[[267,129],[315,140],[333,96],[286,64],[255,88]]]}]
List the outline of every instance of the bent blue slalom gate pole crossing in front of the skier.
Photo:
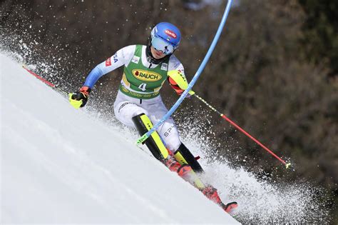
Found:
[{"label": "bent blue slalom gate pole crossing in front of the skier", "polygon": [[227,6],[226,6],[224,14],[222,16],[222,20],[220,21],[220,26],[218,26],[217,32],[215,34],[214,39],[212,40],[210,48],[209,48],[207,54],[205,55],[202,63],[200,64],[200,67],[198,68],[198,71],[196,72],[195,76],[193,76],[193,79],[190,81],[190,84],[188,85],[188,88],[185,89],[185,91],[183,92],[183,94],[180,96],[180,98],[178,99],[178,101],[176,101],[176,103],[171,107],[171,109],[168,111],[168,113],[165,114],[165,116],[163,116],[163,118],[160,119],[160,121],[158,121],[158,123],[155,124],[155,126],[153,126],[152,129],[150,129],[147,133],[143,134],[143,136],[141,136],[136,141],[136,144],[141,144],[143,141],[145,141],[146,139],[148,139],[148,137],[151,134],[153,134],[153,131],[155,131],[156,129],[158,129],[158,127],[161,124],[163,124],[163,122],[165,120],[167,120],[173,114],[173,112],[178,108],[178,106],[180,106],[180,104],[182,103],[183,99],[185,99],[185,96],[187,96],[187,94],[189,93],[189,91],[193,88],[194,84],[196,83],[196,81],[200,77],[200,74],[202,74],[202,71],[205,68],[205,65],[208,63],[208,61],[210,59],[210,56],[212,54],[212,51],[214,51],[214,49],[215,49],[215,46],[217,44],[218,39],[220,39],[220,34],[222,33],[222,29],[225,26],[225,22],[227,21],[227,16],[229,14],[229,11],[230,11],[230,8],[231,8],[231,4],[232,4],[232,0],[227,0]]}]

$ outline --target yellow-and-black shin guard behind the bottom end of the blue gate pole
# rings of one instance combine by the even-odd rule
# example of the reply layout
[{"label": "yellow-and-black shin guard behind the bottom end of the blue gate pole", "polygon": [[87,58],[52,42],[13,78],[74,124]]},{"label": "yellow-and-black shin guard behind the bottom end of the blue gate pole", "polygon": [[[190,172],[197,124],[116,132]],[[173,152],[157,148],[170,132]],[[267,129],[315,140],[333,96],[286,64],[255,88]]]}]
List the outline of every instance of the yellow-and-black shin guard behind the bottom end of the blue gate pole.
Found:
[{"label": "yellow-and-black shin guard behind the bottom end of the blue gate pole", "polygon": [[[149,117],[145,114],[133,116],[132,120],[135,124],[136,129],[138,130],[138,133],[141,136],[143,136],[143,134],[147,133],[148,131],[150,131],[150,129],[153,128],[153,124],[151,123]],[[154,131],[153,134],[151,134],[150,137],[148,137],[148,139],[146,139],[143,144],[148,147],[148,149],[156,159],[164,161],[164,159],[168,158],[168,150],[163,144],[163,141],[160,139],[157,131]]]}]

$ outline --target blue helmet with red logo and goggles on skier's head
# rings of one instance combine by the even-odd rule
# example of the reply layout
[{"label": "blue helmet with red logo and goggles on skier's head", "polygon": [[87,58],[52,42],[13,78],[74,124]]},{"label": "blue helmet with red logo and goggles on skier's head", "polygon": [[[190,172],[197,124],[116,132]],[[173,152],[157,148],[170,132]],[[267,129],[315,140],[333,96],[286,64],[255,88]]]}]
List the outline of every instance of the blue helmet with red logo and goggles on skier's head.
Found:
[{"label": "blue helmet with red logo and goggles on skier's head", "polygon": [[[148,40],[148,55],[154,63],[160,63],[164,59],[167,59],[173,52],[178,49],[180,44],[180,30],[168,22],[162,22],[157,24],[150,33]],[[153,46],[154,49],[163,51],[165,57],[163,59],[153,58],[150,47]]]}]

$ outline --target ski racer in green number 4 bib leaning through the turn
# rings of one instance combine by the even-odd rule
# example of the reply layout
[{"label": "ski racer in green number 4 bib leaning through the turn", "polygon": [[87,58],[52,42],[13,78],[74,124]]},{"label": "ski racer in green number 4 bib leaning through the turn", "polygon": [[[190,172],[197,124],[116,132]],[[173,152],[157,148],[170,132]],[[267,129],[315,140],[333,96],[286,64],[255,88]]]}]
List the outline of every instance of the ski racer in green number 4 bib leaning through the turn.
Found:
[{"label": "ski racer in green number 4 bib leaning through the turn", "polygon": [[[165,81],[179,95],[184,91],[182,87],[188,86],[183,65],[173,54],[178,49],[180,39],[180,31],[173,24],[157,24],[152,29],[146,46],[123,47],[98,64],[88,74],[83,86],[69,94],[70,103],[77,109],[85,106],[96,81],[104,74],[124,66],[113,106],[114,113],[123,124],[135,127],[140,135],[145,134],[168,112],[160,96],[160,89]],[[203,169],[180,141],[178,129],[171,117],[153,132],[145,144],[156,159],[197,187],[225,211],[237,206],[235,202],[223,204],[217,189],[200,181],[197,174],[202,173]]]}]

